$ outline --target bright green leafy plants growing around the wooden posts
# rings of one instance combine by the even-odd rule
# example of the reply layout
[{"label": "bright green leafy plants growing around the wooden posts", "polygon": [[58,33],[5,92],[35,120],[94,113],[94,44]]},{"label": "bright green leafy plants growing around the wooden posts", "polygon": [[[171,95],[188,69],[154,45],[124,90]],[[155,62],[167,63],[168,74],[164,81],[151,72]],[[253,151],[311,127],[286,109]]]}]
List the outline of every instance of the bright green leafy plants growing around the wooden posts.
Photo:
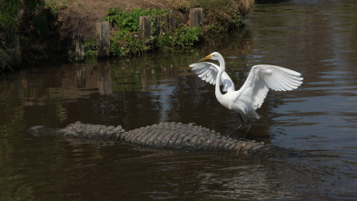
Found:
[{"label": "bright green leafy plants growing around the wooden posts", "polygon": [[[178,27],[174,32],[164,32],[157,35],[155,17],[168,14],[168,11],[158,9],[135,8],[133,11],[122,11],[120,8],[109,9],[103,20],[109,21],[114,27],[111,37],[111,54],[114,56],[140,55],[153,49],[172,49],[190,47],[203,36],[200,27]],[[151,20],[152,37],[143,42],[139,36],[139,17],[153,16]]]}]

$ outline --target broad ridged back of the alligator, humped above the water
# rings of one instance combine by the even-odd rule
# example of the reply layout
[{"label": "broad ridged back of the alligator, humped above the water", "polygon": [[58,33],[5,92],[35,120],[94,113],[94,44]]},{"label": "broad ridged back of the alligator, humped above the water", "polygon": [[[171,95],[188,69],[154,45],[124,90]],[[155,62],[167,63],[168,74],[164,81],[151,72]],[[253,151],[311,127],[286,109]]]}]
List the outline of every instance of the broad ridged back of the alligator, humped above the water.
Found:
[{"label": "broad ridged back of the alligator, humped above the water", "polygon": [[[188,151],[232,151],[244,143],[202,126],[174,122],[137,128],[122,135],[120,139],[144,146]],[[263,145],[255,143],[255,146]]]}]

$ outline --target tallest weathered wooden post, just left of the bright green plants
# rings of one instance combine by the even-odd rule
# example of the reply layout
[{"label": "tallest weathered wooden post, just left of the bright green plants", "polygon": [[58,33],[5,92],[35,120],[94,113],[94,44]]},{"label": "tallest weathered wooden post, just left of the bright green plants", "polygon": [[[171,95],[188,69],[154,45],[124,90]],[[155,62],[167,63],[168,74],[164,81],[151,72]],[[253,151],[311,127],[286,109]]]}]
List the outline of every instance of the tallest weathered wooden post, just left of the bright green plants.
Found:
[{"label": "tallest weathered wooden post, just left of the bright green plants", "polygon": [[109,22],[96,23],[97,57],[107,57],[110,55],[110,32]]}]

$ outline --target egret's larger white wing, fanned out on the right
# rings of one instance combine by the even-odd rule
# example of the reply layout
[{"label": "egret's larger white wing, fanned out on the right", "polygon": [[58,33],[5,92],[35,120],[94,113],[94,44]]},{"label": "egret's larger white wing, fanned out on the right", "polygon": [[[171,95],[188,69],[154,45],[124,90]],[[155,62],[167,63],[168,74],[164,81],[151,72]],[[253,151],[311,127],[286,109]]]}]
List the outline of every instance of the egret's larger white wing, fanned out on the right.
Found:
[{"label": "egret's larger white wing, fanned out on the right", "polygon": [[269,91],[290,91],[302,85],[300,73],[276,66],[254,65],[247,80],[239,90],[239,101],[252,104],[254,109],[262,106]]}]

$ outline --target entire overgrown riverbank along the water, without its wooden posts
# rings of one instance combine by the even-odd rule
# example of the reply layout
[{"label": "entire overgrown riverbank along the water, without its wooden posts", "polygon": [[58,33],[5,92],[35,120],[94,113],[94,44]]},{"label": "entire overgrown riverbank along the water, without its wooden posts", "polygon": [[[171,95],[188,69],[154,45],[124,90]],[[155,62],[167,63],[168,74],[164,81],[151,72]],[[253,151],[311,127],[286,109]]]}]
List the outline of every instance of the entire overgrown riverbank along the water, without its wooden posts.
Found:
[{"label": "entire overgrown riverbank along the water, without its wooden posts", "polygon": [[[15,65],[35,65],[44,60],[54,59],[59,54],[67,54],[74,49],[74,34],[94,28],[98,19],[88,18],[88,14],[103,11],[100,5],[136,4],[142,8],[112,8],[107,10],[102,20],[111,24],[111,55],[140,55],[146,51],[173,48],[189,48],[202,40],[206,33],[221,33],[243,25],[243,16],[253,8],[253,0],[157,0],[157,7],[169,5],[170,9],[155,9],[147,1],[107,0],[99,4],[94,0],[0,0],[0,72]],[[166,4],[167,3],[167,4]],[[135,5],[134,4],[134,5]],[[150,4],[154,4],[151,3]],[[77,12],[69,12],[76,7]],[[187,27],[188,12],[193,7],[203,7],[204,26]],[[84,9],[85,8],[85,9]],[[106,9],[105,9],[106,10]],[[162,15],[174,12],[178,22],[174,32],[152,35],[143,43],[137,36],[138,19],[141,15]],[[64,19],[75,20],[64,20]],[[81,18],[82,17],[82,18]],[[61,21],[62,20],[62,21]],[[81,22],[78,24],[78,22]],[[82,29],[81,29],[82,28]],[[87,29],[85,29],[87,28]],[[152,29],[154,30],[154,21]],[[154,31],[153,31],[154,33]],[[85,38],[85,52],[95,56],[95,40]],[[52,56],[54,55],[54,56]]]}]

